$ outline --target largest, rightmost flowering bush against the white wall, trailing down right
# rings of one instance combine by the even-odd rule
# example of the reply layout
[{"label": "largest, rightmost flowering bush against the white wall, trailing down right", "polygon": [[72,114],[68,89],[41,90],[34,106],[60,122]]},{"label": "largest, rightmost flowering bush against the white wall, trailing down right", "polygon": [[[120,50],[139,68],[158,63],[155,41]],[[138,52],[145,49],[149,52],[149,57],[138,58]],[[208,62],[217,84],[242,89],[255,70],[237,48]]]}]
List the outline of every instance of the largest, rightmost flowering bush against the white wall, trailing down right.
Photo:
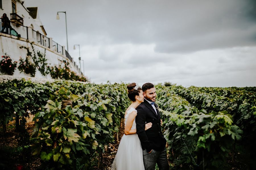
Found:
[{"label": "largest, rightmost flowering bush against the white wall, trailing down right", "polygon": [[52,78],[60,78],[65,80],[75,80],[75,81],[88,81],[86,77],[78,76],[75,72],[71,71],[69,68],[68,61],[60,61],[59,65],[55,65],[50,68],[50,74]]}]

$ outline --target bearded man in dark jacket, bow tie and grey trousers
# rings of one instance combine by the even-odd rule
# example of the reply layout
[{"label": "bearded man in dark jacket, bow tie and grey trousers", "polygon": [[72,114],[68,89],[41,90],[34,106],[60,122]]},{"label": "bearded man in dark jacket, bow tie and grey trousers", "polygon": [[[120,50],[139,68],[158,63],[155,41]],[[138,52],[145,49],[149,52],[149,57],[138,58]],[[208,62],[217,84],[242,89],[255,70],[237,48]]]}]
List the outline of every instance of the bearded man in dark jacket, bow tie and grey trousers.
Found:
[{"label": "bearded man in dark jacket, bow tie and grey trousers", "polygon": [[[144,102],[137,108],[136,129],[143,150],[145,170],[154,170],[156,163],[159,170],[168,170],[166,156],[166,139],[161,131],[161,119],[156,105],[156,89],[152,83],[142,86]],[[152,127],[145,131],[145,124],[152,123]]]}]

